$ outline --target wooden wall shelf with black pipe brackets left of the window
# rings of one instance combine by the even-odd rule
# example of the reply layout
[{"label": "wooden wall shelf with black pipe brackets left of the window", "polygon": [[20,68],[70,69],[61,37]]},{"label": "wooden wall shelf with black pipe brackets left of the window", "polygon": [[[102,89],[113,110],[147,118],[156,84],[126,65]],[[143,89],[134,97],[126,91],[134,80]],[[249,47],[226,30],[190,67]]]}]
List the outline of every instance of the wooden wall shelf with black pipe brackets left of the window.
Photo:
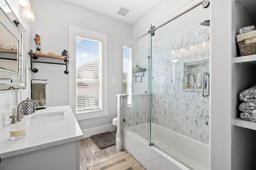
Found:
[{"label": "wooden wall shelf with black pipe brackets left of the window", "polygon": [[[46,63],[46,64],[60,64],[66,65],[66,70],[64,71],[65,74],[68,74],[68,61],[70,57],[68,56],[60,56],[60,55],[48,55],[48,54],[41,54],[41,53],[33,53],[32,50],[29,52],[30,54],[30,69],[32,72],[38,72],[38,69],[33,68],[33,63]],[[35,61],[38,57],[44,57],[49,59],[61,59],[64,60],[65,63],[52,63],[52,62],[45,62],[45,61]]]}]

